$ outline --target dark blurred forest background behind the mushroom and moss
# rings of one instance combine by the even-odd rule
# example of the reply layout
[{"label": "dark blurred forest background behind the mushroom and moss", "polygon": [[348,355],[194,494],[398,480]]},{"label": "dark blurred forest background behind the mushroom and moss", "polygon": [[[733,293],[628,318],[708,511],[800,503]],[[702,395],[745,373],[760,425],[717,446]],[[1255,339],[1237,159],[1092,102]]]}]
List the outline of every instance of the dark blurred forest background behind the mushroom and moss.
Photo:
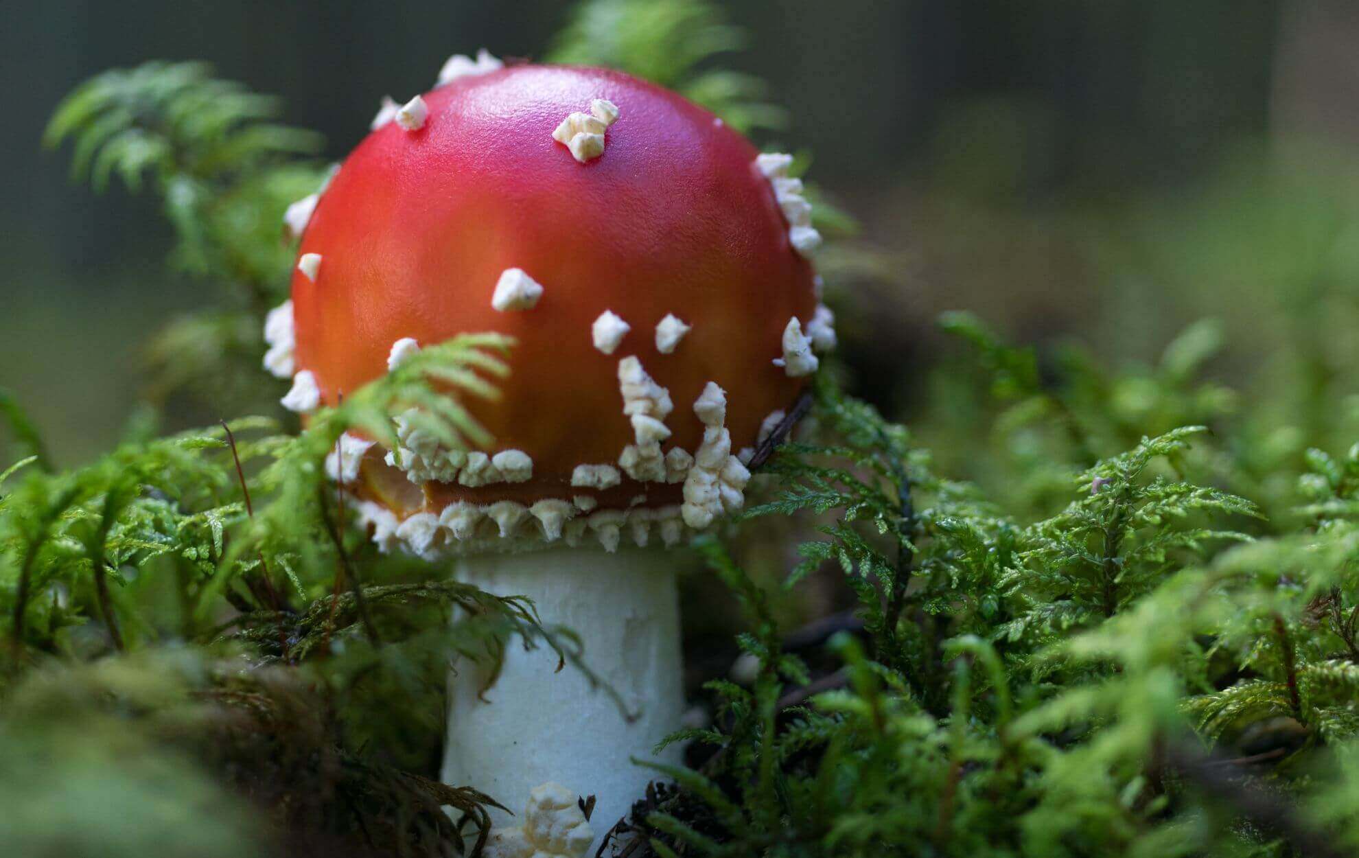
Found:
[{"label": "dark blurred forest background behind the mushroom and moss", "polygon": [[[1152,362],[1186,324],[1215,317],[1229,347],[1214,371],[1234,383],[1263,383],[1280,360],[1311,362],[1326,378],[1354,366],[1359,4],[726,8],[749,44],[724,64],[766,80],[769,101],[790,111],[765,143],[811,152],[810,177],[863,223],[837,252],[832,294],[852,386],[930,442],[976,417],[940,374],[959,351],[935,328],[947,309],[1036,344],[1040,362],[1063,343],[1113,363]],[[147,58],[204,58],[283,95],[285,121],[323,132],[325,154],[341,158],[383,94],[428,88],[453,52],[541,56],[568,10],[546,0],[7,4],[0,386],[27,405],[61,464],[84,461],[135,407],[148,330],[211,301],[201,281],[164,273],[171,234],[155,200],[117,185],[91,196],[68,181],[65,155],[41,151],[52,107],[76,83]],[[1317,407],[1295,393],[1280,407]],[[947,460],[950,446],[939,446]]]}]

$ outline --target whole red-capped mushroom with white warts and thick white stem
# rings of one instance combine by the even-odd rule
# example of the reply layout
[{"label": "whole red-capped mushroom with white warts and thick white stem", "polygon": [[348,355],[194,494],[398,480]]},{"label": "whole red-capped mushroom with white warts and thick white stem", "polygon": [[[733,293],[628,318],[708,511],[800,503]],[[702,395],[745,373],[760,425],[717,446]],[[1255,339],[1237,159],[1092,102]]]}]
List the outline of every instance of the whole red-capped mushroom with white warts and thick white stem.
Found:
[{"label": "whole red-capped mushroom with white warts and thick white stem", "polygon": [[685,563],[665,549],[742,506],[734,451],[833,341],[803,256],[819,237],[791,158],[680,95],[488,57],[387,102],[304,207],[268,366],[308,411],[421,344],[515,339],[501,396],[463,402],[495,449],[440,449],[398,416],[400,454],[349,438],[329,470],[382,549],[453,557],[582,636],[626,711],[550,653],[510,647],[484,696],[454,673],[444,778],[506,802],[563,782],[597,795],[606,829],[648,780],[629,757],[684,704]]}]

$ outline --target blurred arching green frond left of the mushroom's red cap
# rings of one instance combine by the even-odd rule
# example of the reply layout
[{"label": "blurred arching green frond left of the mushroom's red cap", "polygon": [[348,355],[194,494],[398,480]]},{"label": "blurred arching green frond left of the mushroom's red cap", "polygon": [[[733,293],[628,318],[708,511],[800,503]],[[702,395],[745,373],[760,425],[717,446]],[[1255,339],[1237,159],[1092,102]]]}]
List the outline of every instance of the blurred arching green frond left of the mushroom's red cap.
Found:
[{"label": "blurred arching green frond left of the mushroom's red cap", "polygon": [[318,152],[321,136],[270,121],[280,107],[202,63],[145,63],[86,82],[48,124],[45,145],[71,141],[72,177],[95,190],[117,175],[139,192],[149,177],[175,231],[173,262],[222,290],[222,306],[173,321],[148,344],[156,400],[185,392],[257,411],[279,396],[242,379],[254,375],[264,314],[292,269],[283,213],[326,175],[298,159]]}]

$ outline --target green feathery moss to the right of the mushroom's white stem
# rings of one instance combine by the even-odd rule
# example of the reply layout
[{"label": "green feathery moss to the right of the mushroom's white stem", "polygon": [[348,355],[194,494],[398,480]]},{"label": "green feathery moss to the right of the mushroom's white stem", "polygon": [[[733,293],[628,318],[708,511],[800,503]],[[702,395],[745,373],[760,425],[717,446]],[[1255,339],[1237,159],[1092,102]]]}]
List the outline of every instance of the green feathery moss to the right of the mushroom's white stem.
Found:
[{"label": "green feathery moss to the right of the mushroom's white stem", "polygon": [[[1002,383],[1023,368],[991,366]],[[705,547],[746,608],[756,631],[741,643],[761,670],[749,688],[711,684],[713,727],[681,734],[716,751],[667,772],[681,789],[643,825],[656,854],[1330,850],[1330,835],[1292,824],[1280,790],[1354,836],[1352,810],[1330,808],[1311,774],[1332,748],[1348,755],[1355,722],[1348,526],[1254,541],[1214,526],[1258,513],[1152,473],[1188,466],[1197,427],[1080,470],[1076,499],[1021,526],[934,476],[901,427],[825,379],[818,405],[840,443],[784,446],[766,468],[781,488],[749,514],[824,522],[829,540],[800,547],[788,583],[843,575],[862,636],[833,638],[840,664],[813,680],[783,651],[760,589]],[[1311,461],[1303,483],[1349,513],[1337,504],[1359,465]],[[1222,552],[1231,541],[1248,544]],[[1261,766],[1243,771],[1271,791],[1227,775],[1237,761],[1192,730],[1252,751],[1264,736],[1268,749],[1242,764]],[[1224,798],[1239,804],[1223,813]]]}]

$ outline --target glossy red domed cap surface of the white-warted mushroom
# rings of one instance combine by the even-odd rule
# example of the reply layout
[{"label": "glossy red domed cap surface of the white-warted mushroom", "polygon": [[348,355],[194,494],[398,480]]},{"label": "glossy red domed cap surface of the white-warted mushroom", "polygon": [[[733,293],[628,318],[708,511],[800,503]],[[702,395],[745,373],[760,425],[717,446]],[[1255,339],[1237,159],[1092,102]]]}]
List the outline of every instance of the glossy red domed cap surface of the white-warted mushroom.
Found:
[{"label": "glossy red domed cap surface of the white-warted mushroom", "polygon": [[[814,272],[745,137],[674,92],[595,68],[518,65],[423,99],[420,128],[378,128],[332,178],[299,250],[322,261],[292,277],[296,367],[325,404],[386,373],[397,340],[488,330],[516,340],[503,396],[465,405],[495,450],[531,457],[531,479],[425,485],[414,506],[580,494],[605,507],[640,494],[647,506],[680,503],[673,483],[571,484],[578,465],[617,465],[635,443],[618,382],[628,356],[674,402],[665,450],[699,449],[692,404],[708,382],[727,393],[733,451],[796,400],[806,379],[775,359],[790,318],[813,320]],[[580,162],[553,131],[594,99],[620,116],[602,155]],[[492,306],[507,269],[542,286],[531,309]],[[605,311],[631,328],[612,354],[591,337]],[[662,354],[655,329],[667,314],[692,329]]]}]

